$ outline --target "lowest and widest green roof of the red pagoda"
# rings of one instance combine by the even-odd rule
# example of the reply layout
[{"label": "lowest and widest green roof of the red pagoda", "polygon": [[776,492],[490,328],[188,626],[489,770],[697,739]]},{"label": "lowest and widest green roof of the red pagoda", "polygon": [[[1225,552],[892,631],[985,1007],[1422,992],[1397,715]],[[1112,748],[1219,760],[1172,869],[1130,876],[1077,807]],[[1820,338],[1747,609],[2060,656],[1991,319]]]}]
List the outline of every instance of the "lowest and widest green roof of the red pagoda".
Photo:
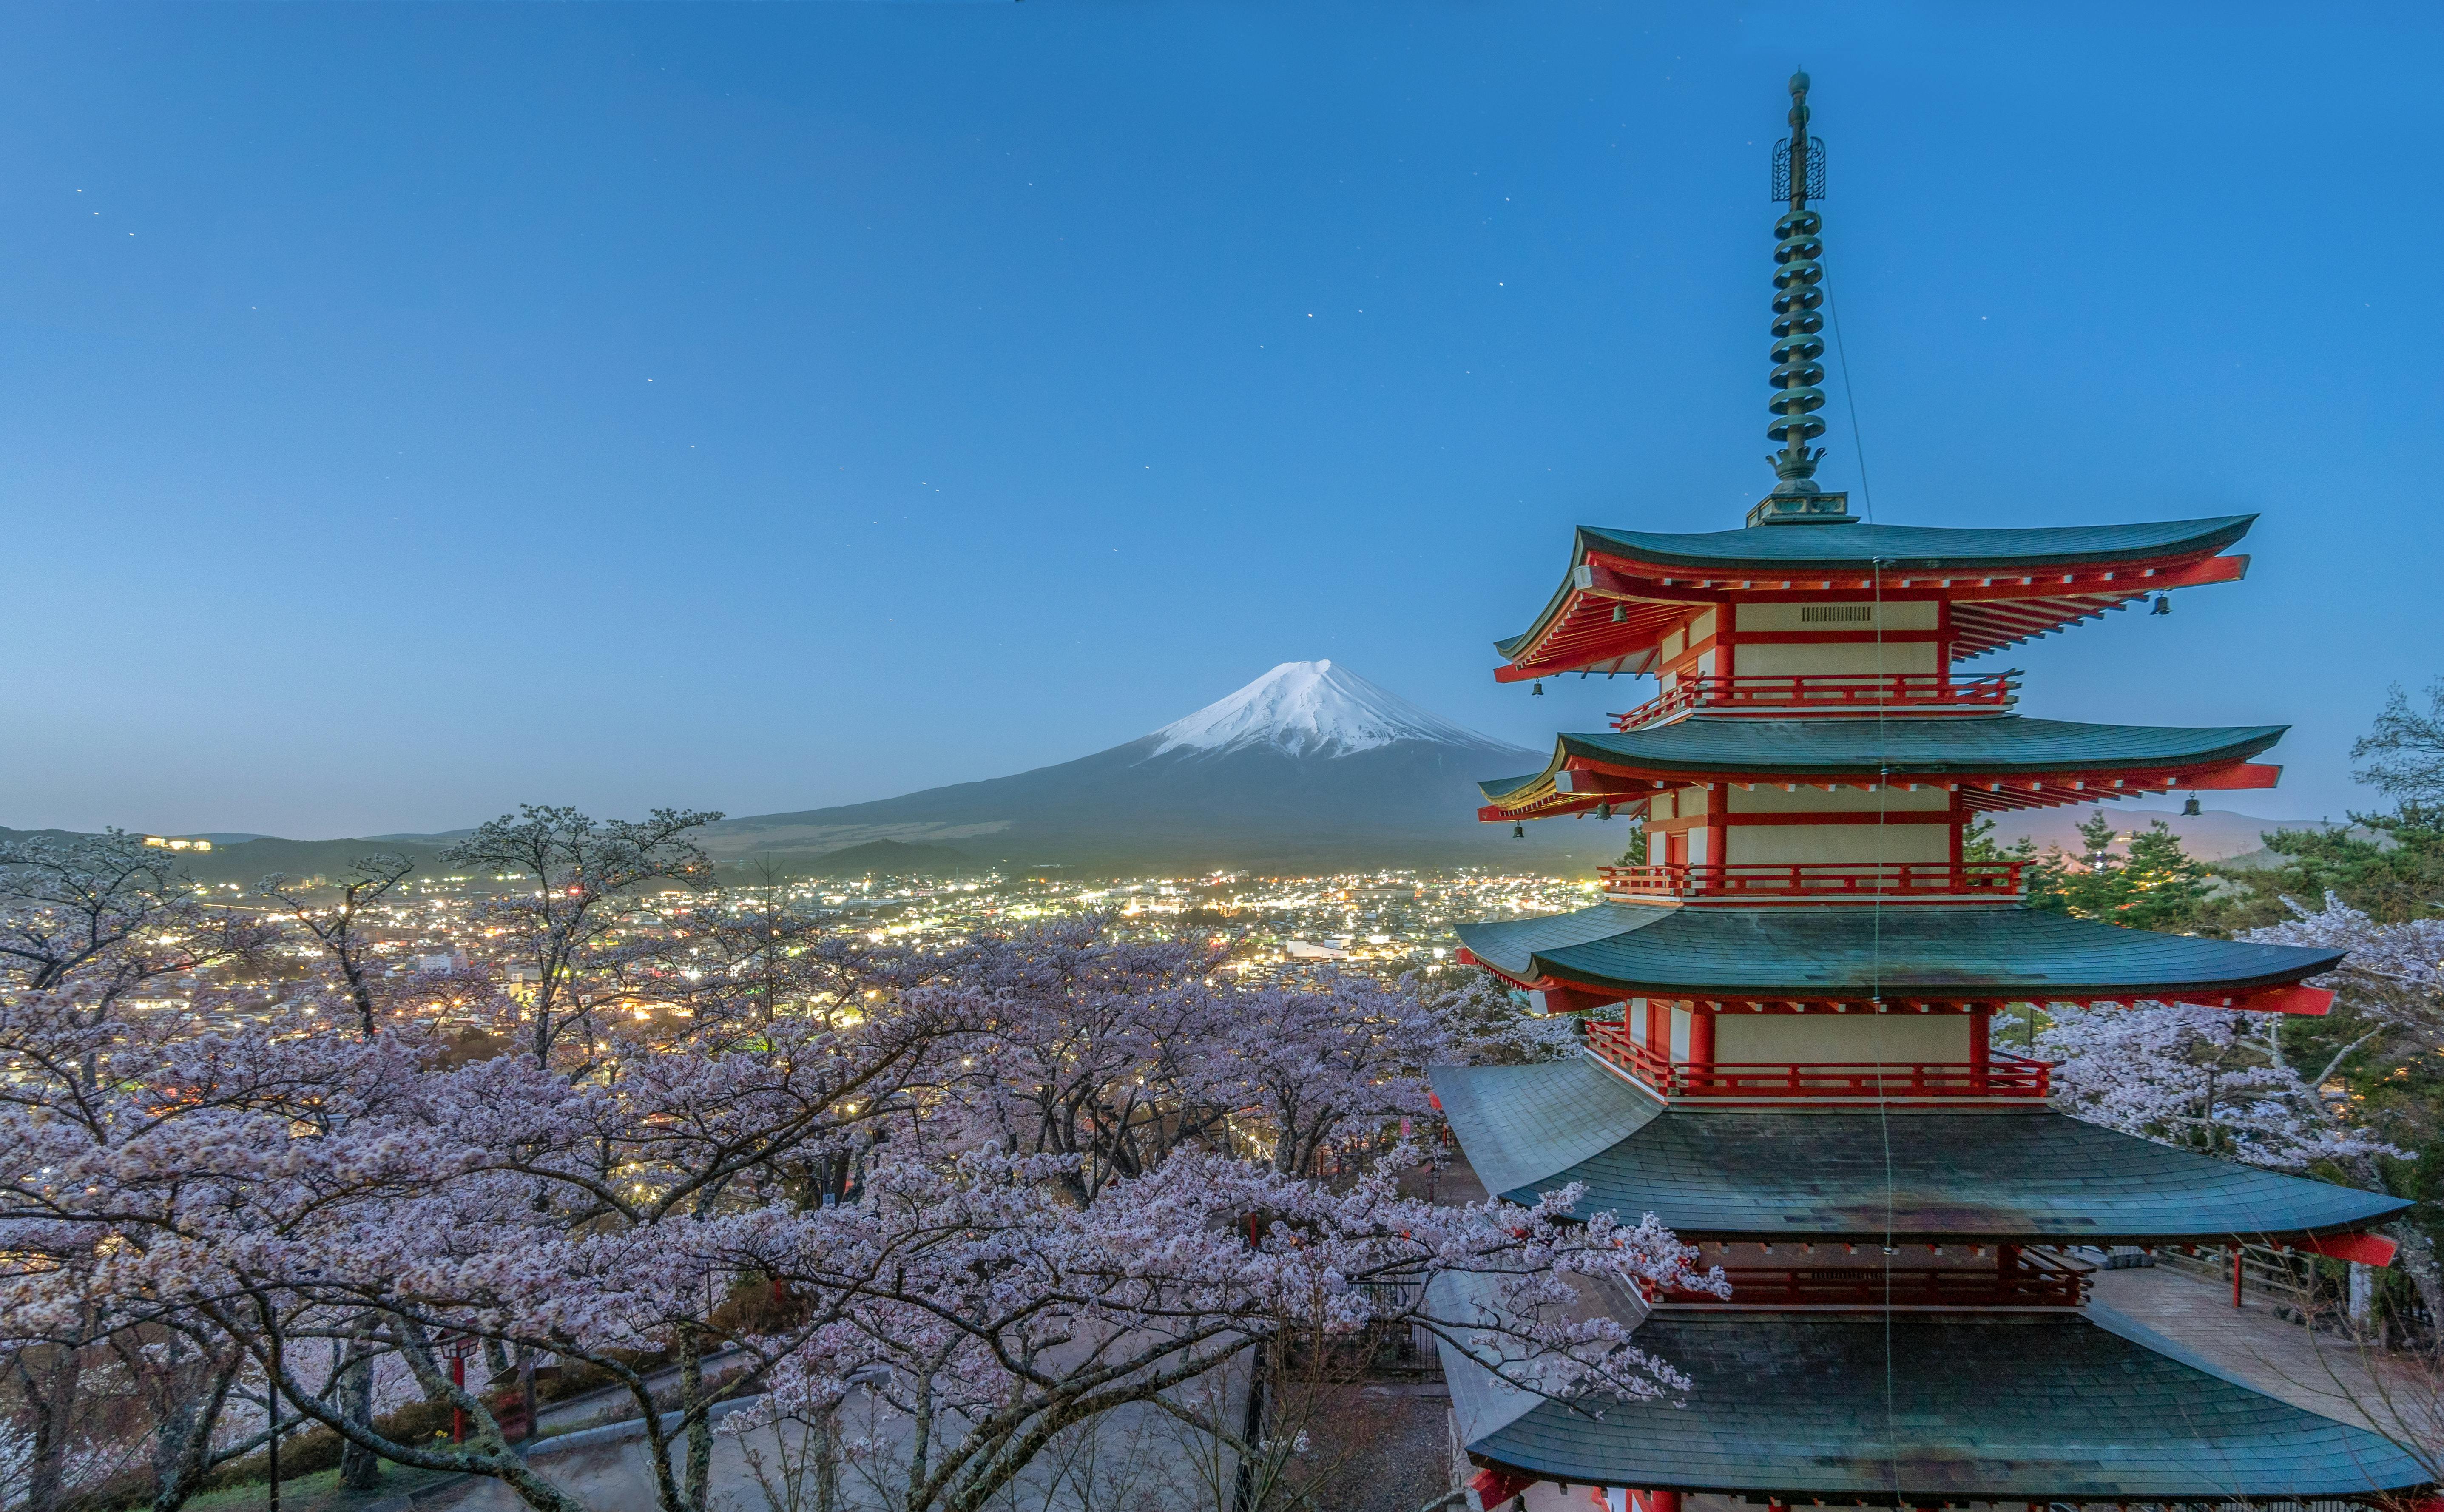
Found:
[{"label": "lowest and widest green roof of the red pagoda", "polygon": [[[1479,1278],[1437,1285],[1488,1295]],[[2429,1480],[2383,1436],[2268,1397],[2097,1304],[1662,1312],[1633,1339],[1689,1375],[1686,1395],[1554,1402],[1440,1341],[1469,1456],[1540,1480],[1787,1505],[2310,1502]]]}]

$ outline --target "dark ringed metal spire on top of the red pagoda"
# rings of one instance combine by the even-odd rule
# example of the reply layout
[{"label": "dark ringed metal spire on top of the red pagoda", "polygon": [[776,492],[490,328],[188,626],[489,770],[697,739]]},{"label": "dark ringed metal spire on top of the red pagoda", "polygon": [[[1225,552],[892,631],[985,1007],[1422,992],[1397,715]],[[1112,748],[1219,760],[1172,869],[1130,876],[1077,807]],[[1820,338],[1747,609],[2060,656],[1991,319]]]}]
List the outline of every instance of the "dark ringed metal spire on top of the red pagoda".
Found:
[{"label": "dark ringed metal spire on top of the red pagoda", "polygon": [[1774,222],[1774,398],[1765,405],[1774,423],[1767,440],[1782,442],[1767,462],[1774,464],[1774,491],[1747,511],[1750,525],[1848,525],[1850,496],[1816,486],[1821,447],[1809,442],[1826,432],[1816,410],[1826,403],[1818,386],[1826,379],[1823,330],[1823,215],[1809,210],[1809,198],[1826,193],[1826,144],[1809,134],[1809,76],[1791,73],[1791,134],[1774,144],[1774,198],[1789,200]]}]

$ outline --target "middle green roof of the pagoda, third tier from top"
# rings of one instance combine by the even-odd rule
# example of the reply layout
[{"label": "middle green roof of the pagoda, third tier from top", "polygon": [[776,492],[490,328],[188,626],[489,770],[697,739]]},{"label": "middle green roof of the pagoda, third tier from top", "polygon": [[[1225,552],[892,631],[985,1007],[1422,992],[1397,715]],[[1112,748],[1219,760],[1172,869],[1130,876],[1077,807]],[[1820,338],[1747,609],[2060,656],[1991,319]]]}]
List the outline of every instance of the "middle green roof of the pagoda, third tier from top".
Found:
[{"label": "middle green roof of the pagoda, third tier from top", "polygon": [[[1791,528],[1796,530],[1796,525]],[[1620,997],[2197,999],[2283,987],[2341,950],[2160,936],[2041,909],[1642,909],[1462,923],[1469,955],[1513,982]]]}]

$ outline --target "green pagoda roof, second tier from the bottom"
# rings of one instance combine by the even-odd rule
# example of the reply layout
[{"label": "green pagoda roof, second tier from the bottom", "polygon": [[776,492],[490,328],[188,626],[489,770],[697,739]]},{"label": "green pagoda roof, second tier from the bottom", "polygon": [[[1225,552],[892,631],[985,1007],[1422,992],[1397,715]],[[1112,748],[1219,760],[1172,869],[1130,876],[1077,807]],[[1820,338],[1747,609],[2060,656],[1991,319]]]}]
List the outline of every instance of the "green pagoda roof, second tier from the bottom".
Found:
[{"label": "green pagoda roof, second tier from the bottom", "polygon": [[1488,1192],[1530,1204],[1584,1182],[1581,1214],[1655,1214],[1681,1238],[2226,1243],[2354,1234],[2410,1207],[2051,1109],[1667,1109],[1593,1055],[1432,1080]]}]

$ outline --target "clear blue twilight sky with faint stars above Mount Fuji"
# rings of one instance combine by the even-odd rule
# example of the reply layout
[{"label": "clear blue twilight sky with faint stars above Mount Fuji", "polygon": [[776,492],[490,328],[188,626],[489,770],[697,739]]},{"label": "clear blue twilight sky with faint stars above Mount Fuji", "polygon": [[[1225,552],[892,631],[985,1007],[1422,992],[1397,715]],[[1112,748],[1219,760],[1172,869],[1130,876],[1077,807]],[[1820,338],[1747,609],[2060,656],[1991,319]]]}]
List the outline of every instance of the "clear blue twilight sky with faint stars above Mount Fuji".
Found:
[{"label": "clear blue twilight sky with faint stars above Mount Fuji", "polygon": [[17,5],[0,823],[804,809],[1308,657],[1593,728],[1645,684],[1488,642],[1574,523],[1772,481],[1801,61],[1877,518],[2263,511],[2246,584],[1999,664],[2290,721],[2229,806],[2339,816],[2444,672],[2439,56],[2231,0]]}]

